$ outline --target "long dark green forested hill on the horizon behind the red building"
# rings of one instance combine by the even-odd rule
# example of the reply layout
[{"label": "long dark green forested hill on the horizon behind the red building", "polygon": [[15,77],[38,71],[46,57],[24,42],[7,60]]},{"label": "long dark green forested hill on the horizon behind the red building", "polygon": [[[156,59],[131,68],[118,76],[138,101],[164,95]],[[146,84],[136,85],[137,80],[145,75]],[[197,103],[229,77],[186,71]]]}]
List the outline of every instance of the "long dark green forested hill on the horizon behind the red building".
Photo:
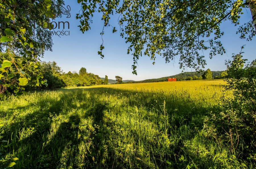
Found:
[{"label": "long dark green forested hill on the horizon behind the red building", "polygon": [[[220,73],[223,71],[212,71],[212,79],[214,79],[214,77],[216,76],[220,76]],[[179,73],[177,75],[173,75],[173,76],[168,76],[168,77],[161,77],[158,79],[146,79],[143,81],[133,81],[133,82],[129,82],[129,83],[148,83],[148,82],[164,82],[167,81],[168,78],[176,78],[177,81],[185,81],[187,79],[187,77],[193,77],[193,76],[197,76],[200,77],[203,75],[203,72],[201,73],[197,73],[197,72],[184,72],[184,73]]]}]

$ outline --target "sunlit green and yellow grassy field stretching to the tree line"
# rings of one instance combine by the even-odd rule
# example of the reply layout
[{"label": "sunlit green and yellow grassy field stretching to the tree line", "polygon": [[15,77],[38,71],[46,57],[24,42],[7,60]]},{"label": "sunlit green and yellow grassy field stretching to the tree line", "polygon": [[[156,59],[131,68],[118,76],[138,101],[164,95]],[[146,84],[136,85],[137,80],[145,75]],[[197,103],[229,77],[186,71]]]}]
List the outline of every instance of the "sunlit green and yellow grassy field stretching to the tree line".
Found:
[{"label": "sunlit green and yellow grassy field stretching to the tree line", "polygon": [[228,148],[204,130],[223,84],[100,85],[11,97],[0,101],[0,157],[17,157],[14,168],[232,168]]}]

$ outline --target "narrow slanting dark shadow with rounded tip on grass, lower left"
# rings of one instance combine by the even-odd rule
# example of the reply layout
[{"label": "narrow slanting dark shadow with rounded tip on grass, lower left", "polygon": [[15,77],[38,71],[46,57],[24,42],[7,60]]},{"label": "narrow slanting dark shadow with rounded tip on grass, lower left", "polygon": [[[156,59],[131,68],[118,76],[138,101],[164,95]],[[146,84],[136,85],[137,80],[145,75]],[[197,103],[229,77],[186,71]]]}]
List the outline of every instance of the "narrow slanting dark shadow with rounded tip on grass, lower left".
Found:
[{"label": "narrow slanting dark shadow with rounded tip on grass, lower left", "polygon": [[42,147],[42,155],[36,164],[39,168],[70,166],[77,153],[77,138],[80,117],[72,115],[67,122],[62,122],[54,136]]}]

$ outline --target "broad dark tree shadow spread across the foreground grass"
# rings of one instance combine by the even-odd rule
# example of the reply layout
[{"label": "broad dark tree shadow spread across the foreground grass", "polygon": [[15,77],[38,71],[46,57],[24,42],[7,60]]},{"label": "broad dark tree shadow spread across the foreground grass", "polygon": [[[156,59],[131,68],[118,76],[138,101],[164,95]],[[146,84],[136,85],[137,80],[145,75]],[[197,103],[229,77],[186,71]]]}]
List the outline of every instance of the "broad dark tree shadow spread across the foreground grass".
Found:
[{"label": "broad dark tree shadow spread across the foreground grass", "polygon": [[[38,102],[37,105],[41,107],[39,110],[32,103],[25,107],[20,107],[20,111],[26,111],[26,107],[35,107],[36,110],[25,116],[13,119],[13,122],[5,127],[2,136],[11,143],[7,149],[7,153],[12,154],[14,152],[19,158],[15,168],[67,168],[69,166],[77,168],[76,158],[84,158],[86,161],[86,165],[84,166],[92,168],[109,168],[111,166],[135,167],[135,164],[134,166],[130,166],[114,157],[114,149],[117,147],[111,147],[109,137],[113,134],[113,126],[115,124],[112,121],[106,120],[108,117],[104,113],[109,109],[113,110],[115,105],[110,106],[108,100],[101,101],[100,96],[106,93],[125,100],[126,105],[121,105],[121,107],[141,107],[148,111],[154,109],[154,112],[157,113],[156,116],[163,114],[162,108],[165,101],[166,113],[169,115],[169,121],[172,122],[170,125],[173,128],[179,128],[184,124],[187,124],[192,130],[195,126],[202,128],[203,116],[212,109],[212,107],[205,107],[203,105],[196,106],[187,93],[184,93],[184,96],[179,98],[177,96],[166,95],[162,92],[143,92],[104,87],[61,89],[60,91],[66,93],[61,95],[59,100],[48,99],[47,102],[49,104],[46,104],[45,100]],[[90,103],[89,105],[81,104],[80,107],[86,109],[86,112],[81,116],[77,114],[71,115],[67,121],[59,124],[59,128],[55,133],[49,136],[53,123],[52,118],[60,115],[63,110],[61,100],[67,100],[70,109],[77,109],[76,105],[72,104],[73,97],[77,97],[80,101],[83,100],[87,97],[82,94],[83,91],[93,93],[89,97],[94,103]],[[71,97],[69,97],[69,94],[71,94]],[[98,94],[98,96],[94,94]],[[158,111],[155,111],[156,109]],[[117,110],[116,113],[118,114],[120,112]],[[150,122],[150,115],[141,118],[144,121]],[[78,128],[81,119],[92,119],[92,126],[95,130],[89,135],[93,144],[89,147],[87,157],[77,157],[79,156],[78,145],[81,141],[84,141],[83,139],[78,139],[77,136],[77,133],[81,132]],[[20,132],[23,129],[26,130],[27,136],[20,136]],[[137,134],[136,131],[133,134]],[[193,138],[195,134],[196,132],[193,133],[192,131],[190,138]],[[139,138],[139,136],[136,136],[136,138]],[[145,139],[147,140],[146,142],[150,143],[148,138]],[[152,142],[150,144],[155,143]],[[178,149],[174,149],[175,153],[181,152],[181,148],[183,147],[181,140],[176,147]],[[96,158],[94,159],[94,157]],[[158,167],[165,168],[166,164],[160,159],[163,156],[156,155],[155,157],[156,159],[159,158],[159,160],[154,159]],[[170,159],[173,158],[173,155],[166,154],[164,157]],[[137,165],[143,167],[143,163],[138,162]]]}]

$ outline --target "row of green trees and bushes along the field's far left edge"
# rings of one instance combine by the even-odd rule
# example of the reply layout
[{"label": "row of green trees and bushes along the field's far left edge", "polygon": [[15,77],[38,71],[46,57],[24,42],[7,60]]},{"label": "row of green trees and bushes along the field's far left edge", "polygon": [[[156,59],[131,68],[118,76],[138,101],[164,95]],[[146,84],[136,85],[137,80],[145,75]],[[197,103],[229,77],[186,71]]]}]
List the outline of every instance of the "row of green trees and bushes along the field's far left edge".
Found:
[{"label": "row of green trees and bushes along the field's far left edge", "polygon": [[[0,54],[0,59],[6,60],[9,59],[8,54]],[[20,61],[22,58],[17,58],[15,60]],[[57,66],[56,62],[38,62],[40,65],[40,72],[38,69],[32,69],[31,67],[28,67],[30,63],[27,63],[26,67],[24,67],[24,71],[29,72],[30,75],[32,75],[30,78],[30,82],[25,81],[25,83],[32,83],[35,81],[38,74],[40,74],[42,77],[45,78],[45,81],[47,81],[48,87],[41,86],[41,89],[55,89],[55,88],[62,88],[62,87],[76,87],[76,86],[91,86],[91,85],[98,85],[103,84],[103,81],[100,79],[98,75],[94,75],[93,73],[87,73],[86,69],[82,67],[79,71],[79,74],[77,72],[71,73],[70,71],[68,73],[64,73],[61,67]],[[35,66],[36,67],[36,66]],[[36,67],[38,68],[38,67]],[[10,78],[3,77],[1,79],[1,83],[6,84],[19,84],[18,79],[22,78],[22,74],[15,73],[15,66],[14,64],[11,65],[8,69]],[[44,83],[44,81],[40,82]],[[16,90],[15,87],[11,86],[9,89],[7,89],[4,85],[0,84],[0,96],[4,96],[5,93],[13,93],[16,96],[20,96],[20,92],[26,93],[26,91],[30,90],[36,90],[36,88],[39,85],[26,85],[26,86],[20,86],[20,90]]]}]

